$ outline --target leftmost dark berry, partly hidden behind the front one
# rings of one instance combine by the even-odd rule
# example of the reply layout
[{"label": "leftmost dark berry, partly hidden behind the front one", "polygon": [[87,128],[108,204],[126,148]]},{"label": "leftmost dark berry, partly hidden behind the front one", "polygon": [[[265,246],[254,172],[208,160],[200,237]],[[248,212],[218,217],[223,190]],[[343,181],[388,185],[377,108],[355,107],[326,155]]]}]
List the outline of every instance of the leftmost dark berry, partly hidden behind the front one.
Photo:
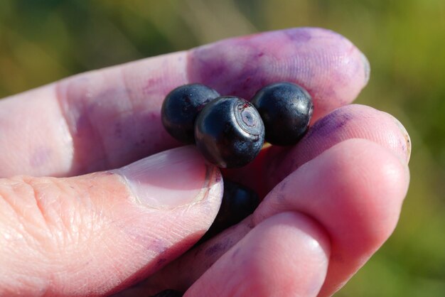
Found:
[{"label": "leftmost dark berry, partly hidden behind the front one", "polygon": [[178,141],[193,144],[193,124],[201,109],[212,99],[220,96],[218,92],[200,84],[183,85],[172,90],[163,100],[161,109],[162,124]]}]

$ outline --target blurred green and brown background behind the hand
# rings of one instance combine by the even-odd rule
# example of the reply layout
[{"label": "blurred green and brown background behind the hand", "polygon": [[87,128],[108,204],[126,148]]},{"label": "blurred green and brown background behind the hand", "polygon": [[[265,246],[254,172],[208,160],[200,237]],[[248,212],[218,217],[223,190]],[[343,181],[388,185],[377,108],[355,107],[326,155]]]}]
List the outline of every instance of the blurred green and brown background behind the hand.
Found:
[{"label": "blurred green and brown background behind the hand", "polygon": [[[336,296],[445,296],[445,1],[0,1],[0,97],[78,72],[296,26],[338,31],[368,56],[358,103],[412,136],[395,233]],[[104,50],[106,49],[106,50]]]}]

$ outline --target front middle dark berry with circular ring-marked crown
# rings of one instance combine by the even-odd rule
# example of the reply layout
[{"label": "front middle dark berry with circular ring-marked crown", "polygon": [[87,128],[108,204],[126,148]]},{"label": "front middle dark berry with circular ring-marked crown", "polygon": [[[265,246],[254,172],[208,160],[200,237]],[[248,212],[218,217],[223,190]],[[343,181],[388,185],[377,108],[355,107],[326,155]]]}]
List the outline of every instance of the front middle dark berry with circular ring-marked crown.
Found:
[{"label": "front middle dark berry with circular ring-marked crown", "polygon": [[257,109],[245,99],[218,97],[198,115],[195,142],[203,156],[216,166],[245,166],[261,151],[264,124]]}]

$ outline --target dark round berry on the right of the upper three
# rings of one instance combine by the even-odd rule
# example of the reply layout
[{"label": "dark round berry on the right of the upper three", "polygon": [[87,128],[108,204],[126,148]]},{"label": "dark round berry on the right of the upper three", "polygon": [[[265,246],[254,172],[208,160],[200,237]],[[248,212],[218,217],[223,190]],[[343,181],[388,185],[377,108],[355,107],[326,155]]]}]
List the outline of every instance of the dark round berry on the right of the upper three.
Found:
[{"label": "dark round berry on the right of the upper three", "polygon": [[279,146],[296,144],[311,121],[311,95],[299,85],[277,82],[267,85],[252,98],[266,128],[266,141]]}]

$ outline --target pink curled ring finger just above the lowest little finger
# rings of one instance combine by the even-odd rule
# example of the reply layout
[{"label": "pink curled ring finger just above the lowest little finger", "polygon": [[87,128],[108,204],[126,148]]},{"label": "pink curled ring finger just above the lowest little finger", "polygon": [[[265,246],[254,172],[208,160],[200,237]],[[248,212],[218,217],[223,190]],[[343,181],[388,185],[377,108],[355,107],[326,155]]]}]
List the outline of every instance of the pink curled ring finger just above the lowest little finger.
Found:
[{"label": "pink curled ring finger just above the lowest little finger", "polygon": [[350,139],[282,180],[254,212],[254,222],[289,210],[326,229],[331,258],[320,296],[331,296],[395,229],[407,193],[407,164],[371,141]]}]

